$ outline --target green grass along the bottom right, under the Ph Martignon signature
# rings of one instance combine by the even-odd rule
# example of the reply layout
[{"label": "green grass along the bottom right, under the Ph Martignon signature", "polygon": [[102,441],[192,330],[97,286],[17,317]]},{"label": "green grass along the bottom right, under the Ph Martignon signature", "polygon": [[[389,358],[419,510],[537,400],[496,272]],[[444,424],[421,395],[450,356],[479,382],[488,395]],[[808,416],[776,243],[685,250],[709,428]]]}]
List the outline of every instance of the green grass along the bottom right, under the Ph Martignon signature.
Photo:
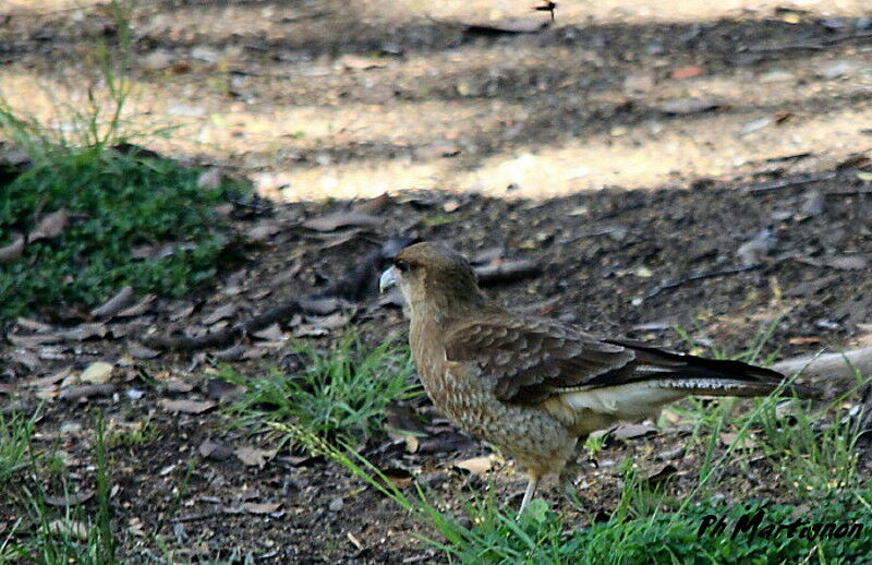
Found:
[{"label": "green grass along the bottom right, under the Ph Martignon signature", "polygon": [[[759,352],[760,345],[755,341],[747,357]],[[822,428],[834,407],[812,409],[807,402],[774,396],[741,406],[735,413],[729,401],[705,406],[692,400],[682,409],[695,422],[695,442],[704,449],[700,482],[690,493],[681,498],[666,494],[641,480],[631,459],[626,459],[620,466],[619,503],[606,521],[588,516],[586,527],[570,522],[541,498],[518,518],[514,508],[494,500],[493,489],[446,512],[434,492],[417,483],[397,488],[349,445],[325,442],[302,425],[272,426],[347,468],[426,525],[433,533],[420,538],[443,551],[449,562],[872,563],[872,482],[856,473],[856,426],[846,421]],[[779,416],[785,408],[794,418],[790,425]],[[736,430],[737,441],[723,449],[720,433],[727,430]],[[725,476],[732,480],[724,472],[729,466],[751,453],[760,455],[758,446],[742,447],[738,441],[742,437],[770,442],[762,449],[774,459],[772,476],[779,484],[772,486],[789,492],[790,503],[748,498],[726,505],[713,496],[726,484]],[[595,443],[585,446],[597,449]],[[717,529],[717,524],[724,528]]]}]

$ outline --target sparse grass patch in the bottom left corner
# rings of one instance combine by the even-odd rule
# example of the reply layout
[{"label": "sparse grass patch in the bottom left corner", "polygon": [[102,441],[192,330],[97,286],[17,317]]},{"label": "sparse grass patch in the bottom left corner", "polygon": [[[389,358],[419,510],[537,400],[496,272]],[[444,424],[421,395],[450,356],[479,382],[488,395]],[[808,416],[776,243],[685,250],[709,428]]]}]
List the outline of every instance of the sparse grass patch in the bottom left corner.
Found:
[{"label": "sparse grass patch in the bottom left corner", "polygon": [[[13,509],[20,516],[9,533],[0,540],[0,563],[66,565],[114,565],[116,538],[112,533],[109,509],[110,482],[106,459],[106,426],[102,414],[96,419],[94,467],[96,506],[88,510],[89,503],[58,505],[48,503],[43,486],[37,459],[31,458],[31,474],[19,484]],[[29,450],[29,449],[28,449]],[[82,488],[70,488],[62,480],[63,496],[81,493]]]}]

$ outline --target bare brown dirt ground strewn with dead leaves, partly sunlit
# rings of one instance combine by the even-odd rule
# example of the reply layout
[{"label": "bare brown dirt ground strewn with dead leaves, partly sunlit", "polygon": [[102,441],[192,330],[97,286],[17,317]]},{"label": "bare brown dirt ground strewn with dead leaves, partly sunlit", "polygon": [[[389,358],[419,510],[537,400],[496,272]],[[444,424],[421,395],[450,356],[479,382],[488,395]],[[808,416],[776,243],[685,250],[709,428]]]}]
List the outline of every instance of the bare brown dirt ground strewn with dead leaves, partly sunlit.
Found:
[{"label": "bare brown dirt ground strewn with dead leaves, partly sunlit", "polygon": [[[38,322],[51,328],[11,324],[0,401],[48,400],[38,438],[60,446],[83,488],[97,407],[111,426],[149,422],[154,441],[111,452],[126,561],[160,555],[156,529],[182,561],[253,551],[277,563],[415,562],[438,558],[411,537],[421,527],[343,470],[287,452],[263,466],[218,457],[204,442],[232,454],[261,438],[229,430],[217,408],[160,404],[222,401],[209,385],[221,363],[292,370],[275,347],[282,337],[326,346],[347,322],[371,342],[402,332],[390,299],[361,292],[230,349],[152,351],[142,336],[220,330],[327,288],[404,236],[450,241],[485,264],[534,262],[489,291],[597,334],[686,348],[669,329],[679,326],[699,351],[736,352],[777,320],[764,353],[869,345],[872,12],[861,1],[713,4],[567,1],[546,25],[525,2],[137,3],[125,118],[143,130],[185,124],[143,144],[246,176],[275,202],[233,211],[246,262],[214,293],[157,299],[99,332],[76,323],[82,332],[55,342],[16,339],[57,334],[50,312]],[[99,2],[0,5],[0,94],[69,128],[63,104],[92,86],[99,96],[94,37],[111,39],[113,26]],[[94,361],[119,366],[113,386],[62,399],[75,384],[65,377]],[[362,453],[411,470],[449,505],[481,492],[486,479],[452,462],[489,448],[426,400],[411,408],[428,447],[407,453],[382,436]],[[608,514],[616,461],[634,455],[653,472],[686,434],[679,424],[610,443],[585,477],[585,504]],[[677,492],[698,457],[673,461]],[[500,496],[523,485],[510,464],[495,473]],[[753,471],[736,479],[743,494],[789,496],[768,484]],[[8,520],[0,503],[0,534]]]}]

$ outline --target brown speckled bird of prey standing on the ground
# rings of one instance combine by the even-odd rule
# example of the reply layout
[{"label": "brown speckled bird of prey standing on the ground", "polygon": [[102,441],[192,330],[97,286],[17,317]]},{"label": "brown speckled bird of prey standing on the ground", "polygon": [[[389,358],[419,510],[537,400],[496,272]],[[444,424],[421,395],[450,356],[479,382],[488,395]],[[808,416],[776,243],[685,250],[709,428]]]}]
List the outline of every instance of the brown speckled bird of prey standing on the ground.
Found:
[{"label": "brown speckled bird of prey standing on the ground", "polygon": [[[511,314],[479,290],[467,260],[441,244],[401,250],[380,280],[383,290],[395,284],[409,308],[424,388],[452,422],[526,470],[521,512],[543,476],[571,485],[567,462],[595,430],[655,417],[688,395],[765,396],[783,384],[784,375],[768,369],[598,339]],[[813,396],[799,386],[787,392]]]}]

